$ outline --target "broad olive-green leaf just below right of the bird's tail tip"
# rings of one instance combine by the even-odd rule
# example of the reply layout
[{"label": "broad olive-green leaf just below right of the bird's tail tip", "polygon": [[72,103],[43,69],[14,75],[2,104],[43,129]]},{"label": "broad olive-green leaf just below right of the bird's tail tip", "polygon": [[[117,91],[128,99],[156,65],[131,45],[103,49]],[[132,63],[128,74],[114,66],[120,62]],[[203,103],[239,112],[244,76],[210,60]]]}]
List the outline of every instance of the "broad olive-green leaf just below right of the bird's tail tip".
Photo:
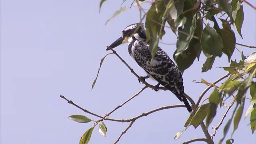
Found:
[{"label": "broad olive-green leaf just below right of the bird's tail tip", "polygon": [[199,126],[199,124],[204,120],[204,118],[207,115],[208,108],[210,103],[202,104],[199,107],[197,107],[189,116],[188,120],[185,123],[185,127],[188,127],[190,125],[193,125],[194,128]]}]

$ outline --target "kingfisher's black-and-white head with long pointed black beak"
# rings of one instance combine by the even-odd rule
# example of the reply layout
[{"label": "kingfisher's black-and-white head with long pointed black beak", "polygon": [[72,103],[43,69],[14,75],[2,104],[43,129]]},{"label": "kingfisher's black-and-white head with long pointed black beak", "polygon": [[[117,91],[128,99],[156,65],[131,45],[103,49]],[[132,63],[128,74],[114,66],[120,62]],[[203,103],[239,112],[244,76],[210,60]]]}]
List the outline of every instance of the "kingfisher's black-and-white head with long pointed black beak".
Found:
[{"label": "kingfisher's black-and-white head with long pointed black beak", "polygon": [[[146,41],[146,33],[143,26],[144,24],[142,23],[131,24],[130,26],[127,26],[124,28],[122,36],[113,42],[109,47],[115,48],[120,44],[124,44],[128,42],[128,39],[131,37],[135,40]],[[110,50],[110,48],[107,48],[106,50]]]}]

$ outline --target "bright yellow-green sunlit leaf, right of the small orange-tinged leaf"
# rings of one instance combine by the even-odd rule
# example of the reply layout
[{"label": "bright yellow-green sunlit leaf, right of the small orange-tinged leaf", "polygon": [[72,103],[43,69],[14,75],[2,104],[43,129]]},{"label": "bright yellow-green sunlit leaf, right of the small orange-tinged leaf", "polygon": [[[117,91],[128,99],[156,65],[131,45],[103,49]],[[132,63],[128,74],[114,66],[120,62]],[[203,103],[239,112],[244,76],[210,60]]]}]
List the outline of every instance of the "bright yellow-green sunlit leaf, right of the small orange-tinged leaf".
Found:
[{"label": "bright yellow-green sunlit leaf, right of the small orange-tinged leaf", "polygon": [[224,92],[227,92],[229,95],[233,94],[236,90],[238,90],[238,87],[242,84],[242,81],[234,80],[234,81],[227,81],[224,82],[219,90],[222,90]]}]

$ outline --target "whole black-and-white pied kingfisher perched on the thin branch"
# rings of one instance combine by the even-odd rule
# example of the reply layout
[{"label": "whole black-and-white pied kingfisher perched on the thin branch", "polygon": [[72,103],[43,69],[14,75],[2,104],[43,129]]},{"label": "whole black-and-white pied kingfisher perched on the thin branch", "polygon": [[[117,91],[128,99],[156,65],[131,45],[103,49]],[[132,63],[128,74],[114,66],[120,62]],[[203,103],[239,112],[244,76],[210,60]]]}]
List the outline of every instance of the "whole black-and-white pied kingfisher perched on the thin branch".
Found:
[{"label": "whole black-and-white pied kingfisher perched on the thin branch", "polygon": [[[136,30],[137,26],[139,26],[138,30]],[[146,33],[143,24],[131,24],[124,28],[122,36],[109,47],[115,48],[126,42],[128,42],[129,54],[147,73],[147,76],[141,76],[140,78],[143,80],[146,78],[156,80],[158,82],[156,86],[161,84],[166,87],[175,94],[180,101],[184,102],[189,112],[192,112],[188,100],[185,97],[182,74],[166,52],[159,46],[156,50],[155,58],[151,63],[152,55],[149,45],[146,43]],[[107,48],[106,50],[110,49]]]}]

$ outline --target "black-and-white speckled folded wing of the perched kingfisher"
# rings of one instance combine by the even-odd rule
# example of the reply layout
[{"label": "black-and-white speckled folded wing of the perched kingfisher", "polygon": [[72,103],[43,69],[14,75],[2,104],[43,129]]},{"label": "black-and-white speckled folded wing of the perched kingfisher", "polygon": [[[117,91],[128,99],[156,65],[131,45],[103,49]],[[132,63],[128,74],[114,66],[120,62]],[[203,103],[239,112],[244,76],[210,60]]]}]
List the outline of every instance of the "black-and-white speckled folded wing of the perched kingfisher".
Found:
[{"label": "black-and-white speckled folded wing of the perched kingfisher", "polygon": [[155,58],[151,61],[149,45],[146,42],[136,41],[134,49],[137,51],[136,62],[162,86],[172,91],[181,101],[184,95],[182,74],[170,59],[168,54],[159,46]]}]

